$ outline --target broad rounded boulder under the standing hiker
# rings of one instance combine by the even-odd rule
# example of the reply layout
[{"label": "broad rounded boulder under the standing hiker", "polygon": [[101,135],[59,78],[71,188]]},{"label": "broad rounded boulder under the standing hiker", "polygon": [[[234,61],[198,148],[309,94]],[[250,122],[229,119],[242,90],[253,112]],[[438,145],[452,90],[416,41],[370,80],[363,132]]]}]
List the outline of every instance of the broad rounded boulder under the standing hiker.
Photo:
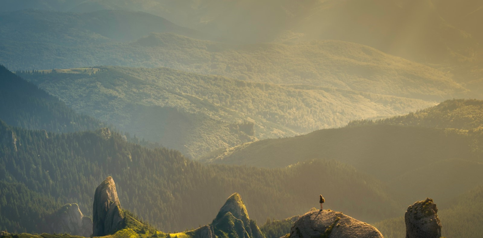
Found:
[{"label": "broad rounded boulder under the standing hiker", "polygon": [[373,226],[330,210],[302,215],[290,229],[289,238],[383,238]]}]

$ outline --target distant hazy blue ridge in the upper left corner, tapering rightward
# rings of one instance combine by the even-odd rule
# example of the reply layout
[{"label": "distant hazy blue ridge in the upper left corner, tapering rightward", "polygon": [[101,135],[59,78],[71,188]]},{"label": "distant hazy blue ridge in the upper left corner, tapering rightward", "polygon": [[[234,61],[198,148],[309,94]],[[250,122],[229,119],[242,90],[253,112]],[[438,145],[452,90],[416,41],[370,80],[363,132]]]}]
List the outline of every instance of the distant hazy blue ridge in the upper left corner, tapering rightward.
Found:
[{"label": "distant hazy blue ridge in the upper left corner, tapering rightward", "polygon": [[0,13],[2,41],[53,43],[59,46],[127,42],[150,33],[201,33],[145,12],[101,10],[89,13],[19,10]]}]

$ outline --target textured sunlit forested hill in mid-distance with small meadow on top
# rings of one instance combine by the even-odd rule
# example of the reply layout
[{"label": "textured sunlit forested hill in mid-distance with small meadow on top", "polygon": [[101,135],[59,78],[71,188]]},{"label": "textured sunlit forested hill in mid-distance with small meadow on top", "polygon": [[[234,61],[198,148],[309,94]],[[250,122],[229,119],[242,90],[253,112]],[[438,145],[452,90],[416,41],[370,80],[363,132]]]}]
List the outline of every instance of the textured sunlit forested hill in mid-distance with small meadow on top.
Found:
[{"label": "textured sunlit forested hill in mid-distance with small meadow on top", "polygon": [[257,139],[293,136],[432,105],[333,88],[251,83],[168,68],[20,73],[78,112],[197,158]]}]

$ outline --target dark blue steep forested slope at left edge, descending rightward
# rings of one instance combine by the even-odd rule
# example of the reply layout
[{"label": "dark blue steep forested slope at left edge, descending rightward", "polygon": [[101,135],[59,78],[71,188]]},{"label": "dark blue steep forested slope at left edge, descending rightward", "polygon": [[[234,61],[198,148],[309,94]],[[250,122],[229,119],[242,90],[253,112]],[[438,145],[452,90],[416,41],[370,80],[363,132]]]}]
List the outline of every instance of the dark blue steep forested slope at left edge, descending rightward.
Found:
[{"label": "dark blue steep forested slope at left edge, descending rightward", "polygon": [[38,86],[0,65],[0,119],[14,126],[56,132],[94,130],[97,119],[79,115]]}]

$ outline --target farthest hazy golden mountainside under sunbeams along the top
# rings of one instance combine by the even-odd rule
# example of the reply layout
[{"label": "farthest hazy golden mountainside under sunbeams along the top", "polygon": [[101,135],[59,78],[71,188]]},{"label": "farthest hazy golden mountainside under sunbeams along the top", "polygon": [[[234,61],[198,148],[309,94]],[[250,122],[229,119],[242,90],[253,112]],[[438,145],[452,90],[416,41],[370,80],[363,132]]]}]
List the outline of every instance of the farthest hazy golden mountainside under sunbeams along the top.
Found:
[{"label": "farthest hazy golden mountainside under sunbeams along the top", "polygon": [[[216,39],[238,43],[330,39],[360,43],[424,62],[481,58],[475,55],[482,43],[481,30],[476,23],[482,7],[478,0],[461,3],[448,0],[44,2],[24,7],[68,8],[79,12],[144,11],[203,31]],[[15,9],[11,2],[3,4],[6,9]]]}]

